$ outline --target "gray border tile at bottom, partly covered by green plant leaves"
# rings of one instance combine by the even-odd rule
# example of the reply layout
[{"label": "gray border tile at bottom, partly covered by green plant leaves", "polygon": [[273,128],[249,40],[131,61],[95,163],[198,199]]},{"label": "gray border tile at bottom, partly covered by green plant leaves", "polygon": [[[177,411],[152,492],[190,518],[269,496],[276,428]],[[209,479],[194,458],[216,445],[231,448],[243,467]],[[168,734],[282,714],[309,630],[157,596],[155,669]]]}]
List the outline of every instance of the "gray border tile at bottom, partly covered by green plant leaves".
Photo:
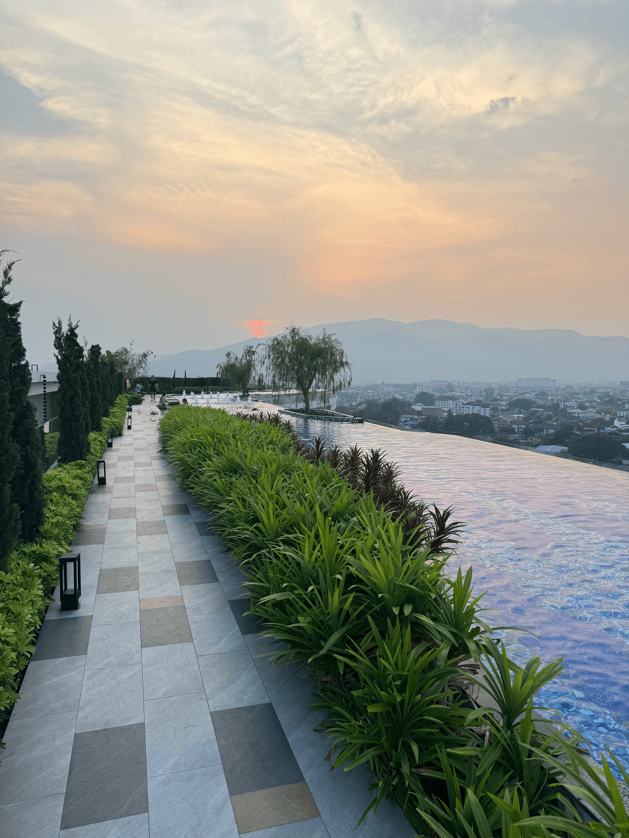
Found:
[{"label": "gray border tile at bottom, partly covered by green plant leaves", "polygon": [[[353,771],[343,771],[341,767],[330,771],[330,763],[325,762],[330,743],[306,747],[296,751],[295,757],[330,838],[345,838],[356,835],[356,824],[373,799],[374,793],[367,789],[372,778],[364,766]],[[413,838],[415,833],[399,806],[386,801],[375,818],[366,817],[359,831],[361,838]]]}]

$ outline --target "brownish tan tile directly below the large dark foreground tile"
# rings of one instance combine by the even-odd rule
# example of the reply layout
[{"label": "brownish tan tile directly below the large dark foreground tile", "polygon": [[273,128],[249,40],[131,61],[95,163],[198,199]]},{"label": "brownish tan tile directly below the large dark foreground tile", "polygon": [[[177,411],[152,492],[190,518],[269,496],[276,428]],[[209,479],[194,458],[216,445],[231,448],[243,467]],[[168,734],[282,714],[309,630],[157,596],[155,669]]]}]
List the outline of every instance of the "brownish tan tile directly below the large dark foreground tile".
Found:
[{"label": "brownish tan tile directly below the large dark foreground tile", "polygon": [[241,835],[253,830],[319,818],[319,810],[304,782],[233,794],[231,805]]}]

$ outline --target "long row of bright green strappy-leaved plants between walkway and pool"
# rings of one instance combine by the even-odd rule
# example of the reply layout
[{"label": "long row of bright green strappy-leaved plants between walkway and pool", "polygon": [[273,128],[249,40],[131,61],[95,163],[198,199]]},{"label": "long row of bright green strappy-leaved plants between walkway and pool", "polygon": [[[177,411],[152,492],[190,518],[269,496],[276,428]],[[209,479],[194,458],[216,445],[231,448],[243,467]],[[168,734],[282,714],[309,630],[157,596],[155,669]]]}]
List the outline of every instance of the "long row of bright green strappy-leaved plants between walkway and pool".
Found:
[{"label": "long row of bright green strappy-leaved plants between walkway and pool", "polygon": [[[332,768],[372,769],[363,818],[387,798],[433,838],[629,835],[606,761],[603,777],[576,732],[533,721],[533,696],[561,662],[522,669],[507,658],[471,570],[450,579],[433,540],[409,538],[403,515],[352,489],[331,457],[304,453],[278,416],[179,406],[159,432],[182,488],[247,574],[263,635],[282,642],[274,663],[318,682]],[[476,706],[475,685],[492,706]],[[565,777],[600,825],[581,820]]]}]

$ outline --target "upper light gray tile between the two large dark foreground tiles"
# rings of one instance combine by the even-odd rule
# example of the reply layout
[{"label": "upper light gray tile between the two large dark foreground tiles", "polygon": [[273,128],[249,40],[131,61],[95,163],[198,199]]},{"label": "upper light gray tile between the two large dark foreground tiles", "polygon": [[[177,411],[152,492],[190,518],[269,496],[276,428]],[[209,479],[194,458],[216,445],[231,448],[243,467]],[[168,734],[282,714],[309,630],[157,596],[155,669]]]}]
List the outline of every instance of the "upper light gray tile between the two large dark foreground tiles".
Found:
[{"label": "upper light gray tile between the two large dark foreground tiles", "polygon": [[220,765],[205,693],[144,702],[148,776]]}]

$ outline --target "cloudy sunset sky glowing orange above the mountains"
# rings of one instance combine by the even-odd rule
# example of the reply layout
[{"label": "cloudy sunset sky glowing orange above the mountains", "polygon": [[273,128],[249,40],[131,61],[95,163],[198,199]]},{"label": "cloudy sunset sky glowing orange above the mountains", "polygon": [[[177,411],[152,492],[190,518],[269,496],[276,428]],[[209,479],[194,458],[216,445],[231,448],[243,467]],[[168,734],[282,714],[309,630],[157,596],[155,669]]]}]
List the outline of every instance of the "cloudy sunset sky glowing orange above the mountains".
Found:
[{"label": "cloudy sunset sky glowing orange above the mountains", "polygon": [[29,360],[372,317],[629,335],[629,4],[5,0]]}]

